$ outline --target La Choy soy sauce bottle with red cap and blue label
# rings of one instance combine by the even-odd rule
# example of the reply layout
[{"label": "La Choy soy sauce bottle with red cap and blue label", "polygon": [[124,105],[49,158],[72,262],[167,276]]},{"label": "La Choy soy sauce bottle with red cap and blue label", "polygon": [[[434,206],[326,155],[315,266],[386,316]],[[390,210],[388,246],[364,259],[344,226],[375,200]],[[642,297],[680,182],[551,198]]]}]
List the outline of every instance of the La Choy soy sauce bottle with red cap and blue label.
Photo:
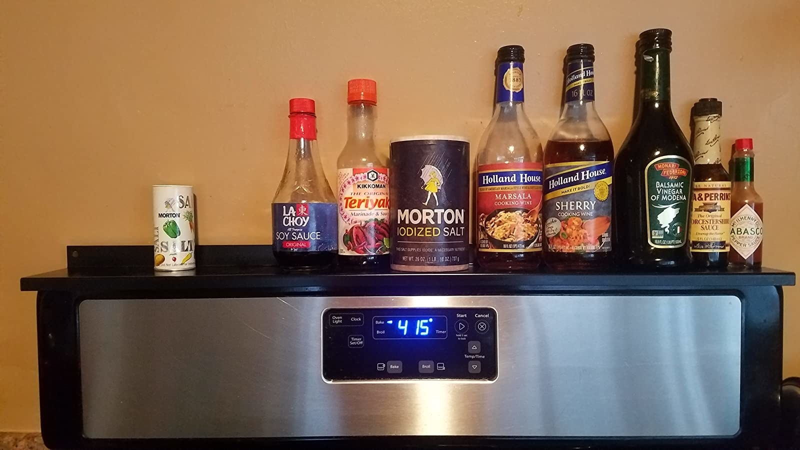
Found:
[{"label": "La Choy soy sauce bottle with red cap and blue label", "polygon": [[273,252],[286,269],[330,267],[337,253],[336,197],[317,151],[314,100],[289,101],[289,154],[272,200]]}]

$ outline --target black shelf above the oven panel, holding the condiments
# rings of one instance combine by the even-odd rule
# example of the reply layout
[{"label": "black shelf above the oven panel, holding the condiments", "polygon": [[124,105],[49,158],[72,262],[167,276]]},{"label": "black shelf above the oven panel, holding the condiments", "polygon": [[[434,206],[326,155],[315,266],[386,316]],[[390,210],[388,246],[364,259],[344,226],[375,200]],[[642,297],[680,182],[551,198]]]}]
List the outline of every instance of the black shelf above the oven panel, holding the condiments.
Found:
[{"label": "black shelf above the oven panel, holding the condiments", "polygon": [[[206,246],[198,248],[198,267],[161,272],[152,267],[150,246],[67,247],[68,267],[21,279],[22,291],[139,291],[187,289],[278,289],[287,292],[442,291],[487,294],[598,287],[737,288],[790,286],[794,273],[758,271],[602,271],[488,273],[478,267],[460,272],[398,271],[286,272],[274,265],[270,246]],[[411,293],[411,292],[408,292]]]}]

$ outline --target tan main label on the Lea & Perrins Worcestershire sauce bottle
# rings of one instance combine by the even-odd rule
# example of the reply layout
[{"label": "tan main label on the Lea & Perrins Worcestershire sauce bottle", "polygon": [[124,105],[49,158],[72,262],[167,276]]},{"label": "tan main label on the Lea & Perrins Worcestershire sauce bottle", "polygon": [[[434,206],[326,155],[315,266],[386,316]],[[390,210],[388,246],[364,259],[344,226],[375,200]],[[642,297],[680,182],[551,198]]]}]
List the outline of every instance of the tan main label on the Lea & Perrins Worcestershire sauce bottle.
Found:
[{"label": "tan main label on the Lea & Perrins Worcestershire sauce bottle", "polygon": [[730,250],[730,181],[694,183],[689,234],[691,251]]}]

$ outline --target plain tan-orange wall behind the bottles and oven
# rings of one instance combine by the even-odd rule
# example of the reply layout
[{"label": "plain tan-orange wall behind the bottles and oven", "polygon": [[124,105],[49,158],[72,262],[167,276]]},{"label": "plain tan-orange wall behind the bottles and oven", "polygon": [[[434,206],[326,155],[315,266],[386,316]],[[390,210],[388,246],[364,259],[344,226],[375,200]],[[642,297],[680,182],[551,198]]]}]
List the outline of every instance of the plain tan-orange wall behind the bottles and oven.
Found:
[{"label": "plain tan-orange wall behind the bottles and oven", "polygon": [[[800,2],[0,2],[0,430],[38,428],[33,293],[67,244],[146,244],[150,185],[190,183],[202,242],[269,243],[287,100],[318,101],[329,179],[345,83],[378,80],[378,142],[447,133],[477,143],[498,46],[526,47],[529,115],[558,115],[566,46],[597,48],[598,110],[617,145],[634,42],[674,30],[673,98],[725,105],[727,148],[751,136],[766,199],[765,260],[800,270]],[[800,305],[786,295],[786,375],[800,375]]]}]

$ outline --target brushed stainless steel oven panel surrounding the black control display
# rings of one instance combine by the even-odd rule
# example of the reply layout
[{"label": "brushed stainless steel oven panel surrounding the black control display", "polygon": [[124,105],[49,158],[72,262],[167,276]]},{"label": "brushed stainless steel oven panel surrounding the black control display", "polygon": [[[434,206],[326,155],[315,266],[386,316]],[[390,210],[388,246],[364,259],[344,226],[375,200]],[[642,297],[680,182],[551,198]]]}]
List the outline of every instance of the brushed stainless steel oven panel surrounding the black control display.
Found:
[{"label": "brushed stainless steel oven panel surrounding the black control display", "polygon": [[[497,380],[326,383],[329,307],[492,307]],[[730,436],[739,428],[734,296],[90,299],[78,315],[90,438]]]}]

